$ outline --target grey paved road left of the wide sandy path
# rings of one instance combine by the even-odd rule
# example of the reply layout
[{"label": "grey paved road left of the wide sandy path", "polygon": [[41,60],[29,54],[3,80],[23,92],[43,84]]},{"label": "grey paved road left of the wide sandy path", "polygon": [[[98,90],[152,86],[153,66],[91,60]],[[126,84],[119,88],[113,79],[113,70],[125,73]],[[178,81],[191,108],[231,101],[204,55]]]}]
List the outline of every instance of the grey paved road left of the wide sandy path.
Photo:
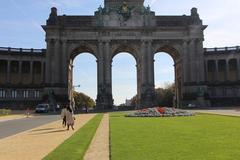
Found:
[{"label": "grey paved road left of the wide sandy path", "polygon": [[0,139],[59,120],[59,115],[39,115],[0,122]]}]

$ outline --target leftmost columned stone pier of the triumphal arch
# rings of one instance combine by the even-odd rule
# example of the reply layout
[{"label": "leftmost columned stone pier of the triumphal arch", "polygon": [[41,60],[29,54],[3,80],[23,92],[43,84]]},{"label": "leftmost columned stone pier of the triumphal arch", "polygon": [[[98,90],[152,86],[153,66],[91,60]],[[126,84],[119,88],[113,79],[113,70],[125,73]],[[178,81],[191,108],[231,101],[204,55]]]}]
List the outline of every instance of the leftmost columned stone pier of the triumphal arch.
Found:
[{"label": "leftmost columned stone pier of the triumphal arch", "polygon": [[[68,67],[65,55],[65,43],[59,39],[46,39],[47,51],[45,62],[45,88],[43,101],[49,103],[54,109],[56,104],[66,104],[71,99],[68,84],[63,83],[68,79]],[[65,61],[63,61],[63,59]],[[63,68],[62,68],[63,67]],[[65,68],[64,68],[65,67]],[[63,73],[62,73],[63,72]]]}]

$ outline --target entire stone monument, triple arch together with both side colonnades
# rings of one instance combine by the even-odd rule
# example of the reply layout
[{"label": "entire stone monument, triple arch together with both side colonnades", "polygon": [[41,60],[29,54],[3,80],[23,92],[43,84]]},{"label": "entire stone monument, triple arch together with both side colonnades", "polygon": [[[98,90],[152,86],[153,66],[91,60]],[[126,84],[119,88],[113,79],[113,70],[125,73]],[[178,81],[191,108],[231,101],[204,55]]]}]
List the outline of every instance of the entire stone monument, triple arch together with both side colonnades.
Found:
[{"label": "entire stone monument, triple arch together with both side colonnades", "polygon": [[158,16],[143,4],[105,0],[92,16],[58,15],[52,8],[42,26],[46,49],[0,47],[0,108],[72,100],[73,60],[84,52],[97,59],[98,109],[113,106],[111,65],[120,52],[137,62],[139,108],[155,104],[158,52],[174,60],[175,106],[240,105],[240,47],[203,48],[207,26],[196,8],[189,15]]}]

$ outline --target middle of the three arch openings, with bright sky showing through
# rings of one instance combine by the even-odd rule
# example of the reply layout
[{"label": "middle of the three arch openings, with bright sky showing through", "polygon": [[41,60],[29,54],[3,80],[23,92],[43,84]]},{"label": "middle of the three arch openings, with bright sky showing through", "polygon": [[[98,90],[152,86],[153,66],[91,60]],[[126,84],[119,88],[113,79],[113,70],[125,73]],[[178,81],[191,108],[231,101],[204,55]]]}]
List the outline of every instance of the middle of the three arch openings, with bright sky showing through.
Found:
[{"label": "middle of the three arch openings, with bright sky showing through", "polygon": [[128,52],[119,52],[112,59],[112,91],[114,105],[132,106],[137,95],[136,59]]}]

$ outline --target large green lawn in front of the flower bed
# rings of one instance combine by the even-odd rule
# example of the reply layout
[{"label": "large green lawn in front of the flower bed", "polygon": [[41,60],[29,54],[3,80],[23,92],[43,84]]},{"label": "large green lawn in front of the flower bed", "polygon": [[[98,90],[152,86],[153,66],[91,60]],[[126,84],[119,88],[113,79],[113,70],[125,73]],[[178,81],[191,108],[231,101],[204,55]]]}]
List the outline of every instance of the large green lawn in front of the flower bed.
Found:
[{"label": "large green lawn in front of the flower bed", "polygon": [[112,160],[233,160],[240,157],[240,118],[110,115]]}]

